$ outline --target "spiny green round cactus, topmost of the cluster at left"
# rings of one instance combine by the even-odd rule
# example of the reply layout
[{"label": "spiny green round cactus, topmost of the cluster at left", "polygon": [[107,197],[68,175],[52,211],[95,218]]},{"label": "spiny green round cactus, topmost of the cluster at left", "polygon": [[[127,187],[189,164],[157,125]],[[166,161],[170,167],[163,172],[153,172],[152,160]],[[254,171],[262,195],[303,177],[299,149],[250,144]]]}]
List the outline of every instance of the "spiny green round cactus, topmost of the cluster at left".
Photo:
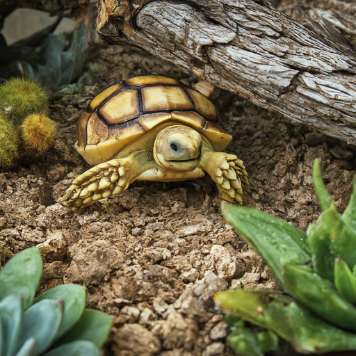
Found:
[{"label": "spiny green round cactus, topmost of the cluster at left", "polygon": [[0,86],[0,107],[6,118],[19,123],[31,113],[46,113],[48,95],[32,79],[13,78]]}]

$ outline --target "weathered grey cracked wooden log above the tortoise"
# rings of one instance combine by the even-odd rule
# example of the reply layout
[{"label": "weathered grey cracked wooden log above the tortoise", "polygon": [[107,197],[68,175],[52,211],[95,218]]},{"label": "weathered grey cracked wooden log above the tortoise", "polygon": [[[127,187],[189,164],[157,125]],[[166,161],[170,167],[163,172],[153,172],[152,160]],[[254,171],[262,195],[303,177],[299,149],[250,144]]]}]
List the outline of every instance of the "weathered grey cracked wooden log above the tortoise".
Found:
[{"label": "weathered grey cracked wooden log above the tortoise", "polygon": [[[97,31],[356,145],[356,6],[337,0],[98,0]],[[292,18],[294,17],[294,19]]]}]

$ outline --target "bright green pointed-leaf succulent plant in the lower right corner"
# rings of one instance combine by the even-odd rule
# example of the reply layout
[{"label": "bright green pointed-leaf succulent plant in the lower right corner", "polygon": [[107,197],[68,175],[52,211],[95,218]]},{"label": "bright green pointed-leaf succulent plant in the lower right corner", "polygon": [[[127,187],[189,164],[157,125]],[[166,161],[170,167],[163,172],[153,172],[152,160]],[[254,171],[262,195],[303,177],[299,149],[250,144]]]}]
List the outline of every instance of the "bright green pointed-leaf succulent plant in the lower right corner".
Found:
[{"label": "bright green pointed-leaf succulent plant in the lower right corner", "polygon": [[243,321],[232,323],[228,342],[238,355],[278,354],[277,344],[270,342],[273,333],[299,353],[356,350],[356,182],[342,216],[323,184],[318,160],[314,186],[322,213],[306,233],[263,211],[223,207],[227,221],[266,260],[284,289],[215,295],[234,316],[269,330],[259,339]]}]

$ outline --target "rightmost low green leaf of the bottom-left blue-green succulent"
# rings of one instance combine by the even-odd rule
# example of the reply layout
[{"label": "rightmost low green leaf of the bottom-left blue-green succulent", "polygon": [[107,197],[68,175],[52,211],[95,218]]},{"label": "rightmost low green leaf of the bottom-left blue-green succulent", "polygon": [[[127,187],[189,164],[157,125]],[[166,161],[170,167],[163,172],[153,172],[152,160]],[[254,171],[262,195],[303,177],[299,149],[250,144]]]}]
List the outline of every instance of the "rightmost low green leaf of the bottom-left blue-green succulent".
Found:
[{"label": "rightmost low green leaf of the bottom-left blue-green succulent", "polygon": [[101,347],[111,329],[113,318],[99,310],[86,309],[78,323],[68,330],[58,344],[70,343],[76,340],[87,340]]}]

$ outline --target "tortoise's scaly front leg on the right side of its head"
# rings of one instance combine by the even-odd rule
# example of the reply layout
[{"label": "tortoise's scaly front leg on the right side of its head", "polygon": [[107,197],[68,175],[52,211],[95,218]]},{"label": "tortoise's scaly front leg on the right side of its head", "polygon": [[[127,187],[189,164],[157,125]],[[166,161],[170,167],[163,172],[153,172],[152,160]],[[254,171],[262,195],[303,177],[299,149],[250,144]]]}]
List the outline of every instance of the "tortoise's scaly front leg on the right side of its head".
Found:
[{"label": "tortoise's scaly front leg on the right side of its head", "polygon": [[205,150],[202,152],[200,167],[216,182],[222,199],[242,203],[243,191],[248,191],[249,184],[241,159],[234,154]]}]

